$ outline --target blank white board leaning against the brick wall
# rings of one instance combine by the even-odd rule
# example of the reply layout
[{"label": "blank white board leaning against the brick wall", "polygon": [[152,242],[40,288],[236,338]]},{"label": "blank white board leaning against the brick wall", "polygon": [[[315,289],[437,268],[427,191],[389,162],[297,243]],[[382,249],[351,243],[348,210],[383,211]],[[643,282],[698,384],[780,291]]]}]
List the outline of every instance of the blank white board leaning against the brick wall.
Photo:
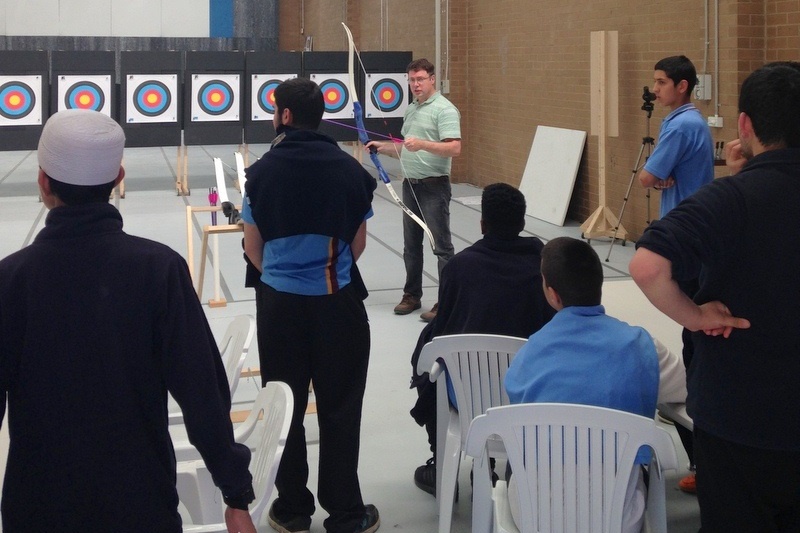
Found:
[{"label": "blank white board leaning against the brick wall", "polygon": [[585,142],[585,131],[550,126],[536,129],[519,185],[528,205],[525,214],[564,225]]}]

